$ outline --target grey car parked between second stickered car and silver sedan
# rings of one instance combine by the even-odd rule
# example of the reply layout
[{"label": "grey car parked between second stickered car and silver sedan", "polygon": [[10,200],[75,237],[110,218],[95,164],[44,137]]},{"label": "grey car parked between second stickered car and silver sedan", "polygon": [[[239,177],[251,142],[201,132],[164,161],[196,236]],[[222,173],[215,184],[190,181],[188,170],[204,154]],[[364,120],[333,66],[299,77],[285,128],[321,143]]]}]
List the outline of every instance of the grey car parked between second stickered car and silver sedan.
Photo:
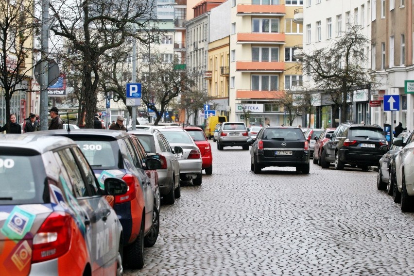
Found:
[{"label": "grey car parked between second stickered car and silver sedan", "polygon": [[160,193],[164,203],[174,204],[175,198],[181,196],[180,163],[175,154],[182,152],[182,148],[177,146],[173,150],[164,134],[157,129],[130,130],[128,133],[138,137],[149,155],[158,155],[161,161],[161,168],[157,170]]}]

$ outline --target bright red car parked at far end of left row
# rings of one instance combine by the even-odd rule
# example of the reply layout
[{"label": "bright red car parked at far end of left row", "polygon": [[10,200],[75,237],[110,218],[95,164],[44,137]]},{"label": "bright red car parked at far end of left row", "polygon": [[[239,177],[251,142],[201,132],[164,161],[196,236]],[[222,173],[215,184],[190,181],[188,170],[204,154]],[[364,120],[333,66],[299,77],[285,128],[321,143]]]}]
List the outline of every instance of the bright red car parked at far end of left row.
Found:
[{"label": "bright red car parked at far end of left row", "polygon": [[184,127],[192,140],[198,146],[201,152],[201,157],[203,159],[203,170],[206,171],[206,175],[211,175],[213,173],[213,155],[211,154],[211,146],[207,140],[206,134],[199,127]]}]

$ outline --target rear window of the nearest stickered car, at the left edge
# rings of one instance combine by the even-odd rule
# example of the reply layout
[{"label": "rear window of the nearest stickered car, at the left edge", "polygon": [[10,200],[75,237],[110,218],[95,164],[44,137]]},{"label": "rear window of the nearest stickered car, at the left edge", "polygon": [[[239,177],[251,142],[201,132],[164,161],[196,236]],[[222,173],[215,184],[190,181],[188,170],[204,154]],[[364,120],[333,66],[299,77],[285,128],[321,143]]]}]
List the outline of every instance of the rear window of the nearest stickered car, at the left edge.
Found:
[{"label": "rear window of the nearest stickered car, at the left edge", "polygon": [[49,203],[45,178],[40,155],[0,154],[0,205]]}]

